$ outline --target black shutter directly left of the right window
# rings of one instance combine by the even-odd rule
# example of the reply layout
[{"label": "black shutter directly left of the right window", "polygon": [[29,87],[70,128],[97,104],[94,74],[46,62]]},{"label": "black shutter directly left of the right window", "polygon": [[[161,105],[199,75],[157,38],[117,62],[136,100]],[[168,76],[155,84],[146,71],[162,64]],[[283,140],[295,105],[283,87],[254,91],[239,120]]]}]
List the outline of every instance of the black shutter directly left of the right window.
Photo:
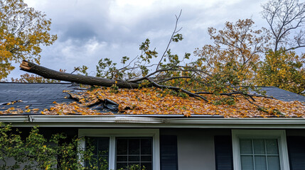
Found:
[{"label": "black shutter directly left of the right window", "polygon": [[232,137],[231,136],[215,136],[215,163],[216,170],[232,170]]}]

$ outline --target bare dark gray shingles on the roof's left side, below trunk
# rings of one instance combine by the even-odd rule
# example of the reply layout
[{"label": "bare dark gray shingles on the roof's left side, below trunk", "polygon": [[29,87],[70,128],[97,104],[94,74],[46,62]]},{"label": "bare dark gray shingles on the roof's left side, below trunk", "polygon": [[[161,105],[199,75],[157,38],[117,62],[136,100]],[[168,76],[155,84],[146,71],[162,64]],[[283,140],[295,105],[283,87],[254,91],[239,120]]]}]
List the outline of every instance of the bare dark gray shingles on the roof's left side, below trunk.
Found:
[{"label": "bare dark gray shingles on the roof's left side, below trunk", "polygon": [[[57,103],[70,103],[71,98],[65,98],[64,90],[73,91],[78,86],[74,84],[25,84],[25,83],[0,83],[0,104],[14,103],[15,108],[50,108],[53,101]],[[5,111],[13,105],[0,105],[0,111]]]}]

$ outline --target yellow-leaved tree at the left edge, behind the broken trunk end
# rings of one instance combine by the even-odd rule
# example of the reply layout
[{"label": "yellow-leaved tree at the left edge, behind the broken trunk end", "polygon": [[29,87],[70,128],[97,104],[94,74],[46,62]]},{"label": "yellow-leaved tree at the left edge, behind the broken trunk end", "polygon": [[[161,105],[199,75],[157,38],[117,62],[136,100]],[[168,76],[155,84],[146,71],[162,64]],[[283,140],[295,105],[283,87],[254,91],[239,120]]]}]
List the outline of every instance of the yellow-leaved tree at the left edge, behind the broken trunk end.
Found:
[{"label": "yellow-leaved tree at the left edge, behind the broken trunk end", "polygon": [[12,62],[29,60],[39,63],[41,45],[52,45],[50,19],[29,8],[23,0],[0,1],[0,79],[14,69]]}]

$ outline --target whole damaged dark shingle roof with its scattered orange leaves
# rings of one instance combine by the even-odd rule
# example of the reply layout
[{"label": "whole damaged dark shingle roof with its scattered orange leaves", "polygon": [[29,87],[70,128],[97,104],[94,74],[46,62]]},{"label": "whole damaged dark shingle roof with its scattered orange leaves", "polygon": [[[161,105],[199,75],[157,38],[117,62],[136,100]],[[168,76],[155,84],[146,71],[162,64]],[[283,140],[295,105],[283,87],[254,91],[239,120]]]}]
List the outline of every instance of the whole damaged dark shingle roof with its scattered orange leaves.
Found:
[{"label": "whole damaged dark shingle roof with its scattered orange leaves", "polygon": [[[277,87],[262,87],[262,90],[266,91],[267,96],[273,96],[274,98],[277,98],[281,101],[290,102],[281,103],[281,101],[272,101],[271,103],[267,103],[267,105],[264,106],[269,106],[272,109],[276,108],[277,106],[282,108],[284,107],[283,113],[285,113],[286,110],[289,110],[287,106],[293,106],[294,108],[291,109],[291,111],[287,111],[287,115],[284,114],[280,116],[304,118],[305,106],[304,103],[301,102],[305,102],[305,96],[294,94],[289,91],[284,91]],[[157,101],[159,103],[164,103],[164,106],[158,106],[159,103],[157,103],[156,98],[149,99],[150,101],[144,101],[146,100],[145,98],[154,95],[154,92],[149,90],[122,90],[122,93],[114,94],[109,93],[107,90],[97,89],[96,91],[93,90],[91,94],[87,93],[85,96],[81,96],[80,92],[82,92],[81,94],[85,94],[87,89],[80,88],[80,86],[77,84],[70,83],[0,83],[0,114],[52,115],[53,113],[56,113],[63,115],[95,115],[98,113],[103,115],[124,113],[129,115],[220,115],[235,118],[257,116],[268,117],[269,115],[271,117],[279,117],[279,115],[273,112],[269,112],[269,115],[268,113],[262,115],[258,113],[259,111],[255,111],[255,114],[247,115],[245,114],[248,112],[246,109],[249,108],[250,110],[253,110],[254,107],[251,106],[252,108],[250,108],[250,106],[245,106],[244,103],[239,103],[236,106],[214,106],[213,104],[207,104],[203,101],[198,102],[193,99],[181,99],[179,97],[170,97],[167,99],[165,97],[161,97],[161,100],[159,101],[159,99],[157,99]],[[136,95],[134,95],[135,93]],[[139,96],[137,93],[139,93]],[[92,94],[97,96],[93,96],[95,99],[91,100],[90,98],[92,97]],[[134,95],[134,99],[132,99],[132,95]],[[266,98],[264,100],[270,101],[272,99]],[[80,106],[78,105],[79,102],[77,101],[82,103],[83,108],[80,110],[77,109]],[[154,101],[156,101],[156,103],[153,103]],[[194,101],[194,103],[189,103],[190,101]],[[173,105],[171,102],[176,102],[176,105]],[[188,103],[188,105],[185,105],[186,103]],[[154,108],[147,108],[148,106],[152,106]],[[198,108],[197,111],[193,109],[196,107]],[[166,110],[167,108],[168,111]],[[7,112],[9,109],[11,109],[11,111]],[[173,110],[169,111],[170,109]]]}]

